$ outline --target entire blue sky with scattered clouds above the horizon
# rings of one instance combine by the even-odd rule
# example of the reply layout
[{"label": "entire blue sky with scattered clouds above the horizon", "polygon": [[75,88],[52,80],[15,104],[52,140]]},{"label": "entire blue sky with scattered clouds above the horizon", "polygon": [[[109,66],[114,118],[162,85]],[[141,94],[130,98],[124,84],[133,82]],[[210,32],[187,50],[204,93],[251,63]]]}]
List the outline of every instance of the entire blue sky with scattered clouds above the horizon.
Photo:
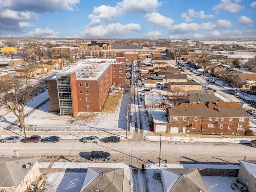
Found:
[{"label": "entire blue sky with scattered clouds above the horizon", "polygon": [[0,37],[256,38],[256,0],[0,0]]}]

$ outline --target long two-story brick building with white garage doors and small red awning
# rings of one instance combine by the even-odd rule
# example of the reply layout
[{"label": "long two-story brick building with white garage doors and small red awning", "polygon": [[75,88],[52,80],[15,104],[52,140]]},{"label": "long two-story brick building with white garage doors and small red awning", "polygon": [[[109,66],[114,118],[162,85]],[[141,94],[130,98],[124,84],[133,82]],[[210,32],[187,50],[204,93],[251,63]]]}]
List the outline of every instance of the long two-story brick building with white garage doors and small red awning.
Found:
[{"label": "long two-story brick building with white garage doors and small red awning", "polygon": [[167,110],[170,132],[243,135],[249,126],[246,110],[236,102],[181,104]]}]

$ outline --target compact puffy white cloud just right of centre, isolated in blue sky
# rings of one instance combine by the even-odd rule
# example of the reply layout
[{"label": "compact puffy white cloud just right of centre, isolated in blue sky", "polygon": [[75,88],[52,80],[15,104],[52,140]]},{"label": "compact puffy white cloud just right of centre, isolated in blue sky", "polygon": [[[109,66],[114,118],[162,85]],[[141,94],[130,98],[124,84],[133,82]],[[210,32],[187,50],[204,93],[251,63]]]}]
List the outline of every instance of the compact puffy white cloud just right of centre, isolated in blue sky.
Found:
[{"label": "compact puffy white cloud just right of centre, isolated in blue sky", "polygon": [[171,18],[167,18],[166,16],[162,16],[156,12],[148,13],[144,16],[144,18],[148,23],[161,28],[170,28],[174,23],[174,20]]}]

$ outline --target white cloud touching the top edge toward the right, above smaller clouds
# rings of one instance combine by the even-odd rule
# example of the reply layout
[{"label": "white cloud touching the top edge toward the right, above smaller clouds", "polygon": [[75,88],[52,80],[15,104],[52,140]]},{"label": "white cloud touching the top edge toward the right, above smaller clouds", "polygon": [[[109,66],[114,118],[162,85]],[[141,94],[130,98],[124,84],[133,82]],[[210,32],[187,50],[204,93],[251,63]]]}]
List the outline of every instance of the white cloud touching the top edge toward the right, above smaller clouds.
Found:
[{"label": "white cloud touching the top edge toward the right, above smaller clouds", "polygon": [[232,0],[220,0],[220,2],[220,4],[215,5],[212,8],[212,10],[216,11],[216,14],[218,14],[218,12],[220,12],[222,9],[230,13],[237,13],[245,8],[244,6],[238,5],[237,3],[233,3]]}]

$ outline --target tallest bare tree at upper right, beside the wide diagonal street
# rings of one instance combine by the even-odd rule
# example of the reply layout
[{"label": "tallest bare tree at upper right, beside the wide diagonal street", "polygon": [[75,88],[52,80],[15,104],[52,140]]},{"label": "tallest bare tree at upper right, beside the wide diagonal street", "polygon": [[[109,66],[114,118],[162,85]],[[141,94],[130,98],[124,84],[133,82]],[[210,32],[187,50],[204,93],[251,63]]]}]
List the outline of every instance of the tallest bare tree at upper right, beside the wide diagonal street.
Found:
[{"label": "tallest bare tree at upper right, beside the wide diagonal street", "polygon": [[196,53],[196,57],[199,60],[199,62],[203,66],[203,75],[205,74],[206,66],[210,64],[214,54],[211,52],[211,49],[209,46],[202,47],[202,50],[200,53]]}]

